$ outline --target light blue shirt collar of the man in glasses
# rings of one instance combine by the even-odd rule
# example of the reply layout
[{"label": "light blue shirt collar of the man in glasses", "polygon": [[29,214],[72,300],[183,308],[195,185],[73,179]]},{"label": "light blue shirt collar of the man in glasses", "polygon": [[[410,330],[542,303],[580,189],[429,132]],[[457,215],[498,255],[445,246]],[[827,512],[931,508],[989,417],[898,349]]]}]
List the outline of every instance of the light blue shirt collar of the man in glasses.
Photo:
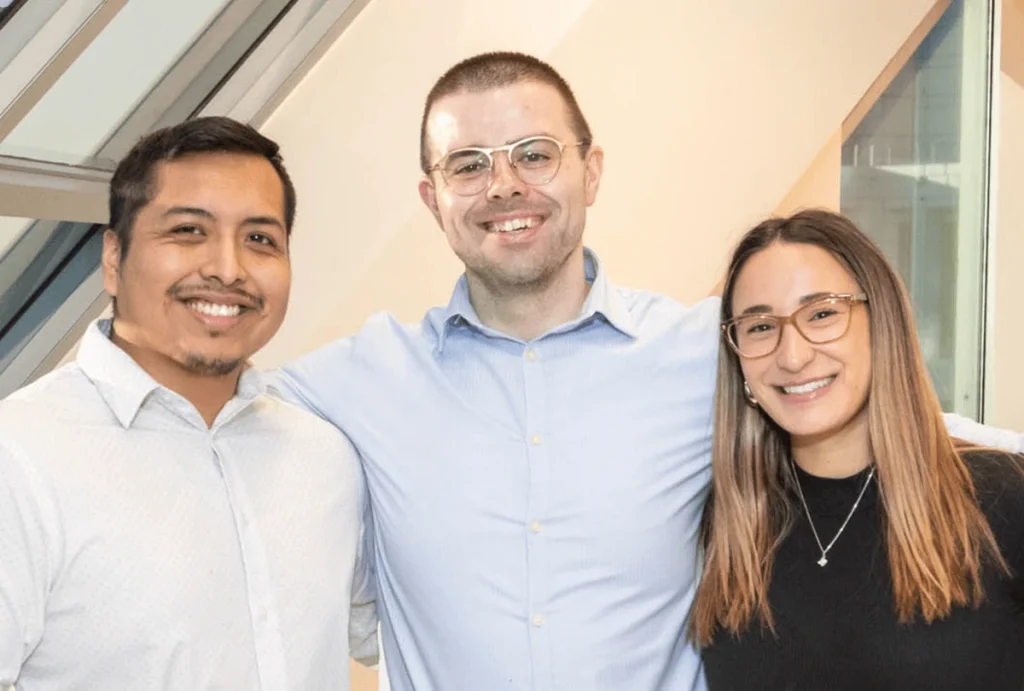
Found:
[{"label": "light blue shirt collar of the man in glasses", "polygon": [[[630,338],[635,339],[636,325],[633,321],[633,316],[630,314],[629,308],[623,300],[623,296],[614,288],[614,286],[608,283],[608,277],[604,272],[601,260],[598,259],[593,250],[590,248],[584,248],[583,261],[584,273],[586,275],[587,283],[590,284],[590,292],[587,294],[587,300],[584,302],[583,308],[580,310],[580,314],[575,319],[558,327],[553,330],[553,332],[560,333],[572,331],[582,323],[590,321],[591,318],[601,316],[615,330],[622,332]],[[449,333],[455,327],[469,325],[477,331],[501,336],[501,334],[498,334],[495,330],[483,326],[479,316],[477,316],[476,310],[473,309],[473,305],[469,301],[469,283],[465,273],[463,273],[456,283],[455,291],[452,293],[452,299],[449,301],[447,307],[444,308],[440,316],[441,323],[437,330],[438,353],[443,351],[444,342],[447,340]]]}]

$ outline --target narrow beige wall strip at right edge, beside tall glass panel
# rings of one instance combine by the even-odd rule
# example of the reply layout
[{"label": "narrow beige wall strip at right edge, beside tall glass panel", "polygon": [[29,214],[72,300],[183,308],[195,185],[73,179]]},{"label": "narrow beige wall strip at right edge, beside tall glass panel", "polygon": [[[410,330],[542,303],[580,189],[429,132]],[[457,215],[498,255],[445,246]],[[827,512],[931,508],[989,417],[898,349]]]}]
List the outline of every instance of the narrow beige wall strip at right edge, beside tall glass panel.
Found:
[{"label": "narrow beige wall strip at right edge, beside tall glass panel", "polygon": [[986,422],[1024,430],[1024,0],[1002,5]]}]

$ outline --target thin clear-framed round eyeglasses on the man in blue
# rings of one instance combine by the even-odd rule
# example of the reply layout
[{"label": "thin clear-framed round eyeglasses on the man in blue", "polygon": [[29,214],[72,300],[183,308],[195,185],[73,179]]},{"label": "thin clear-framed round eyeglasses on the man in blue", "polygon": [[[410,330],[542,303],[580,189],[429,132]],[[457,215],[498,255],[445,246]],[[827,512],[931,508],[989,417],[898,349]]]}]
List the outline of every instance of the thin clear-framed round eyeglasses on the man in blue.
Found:
[{"label": "thin clear-framed round eyeglasses on the man in blue", "polygon": [[558,174],[562,153],[566,146],[587,146],[590,141],[566,144],[554,137],[536,136],[513,141],[504,146],[470,146],[450,152],[431,166],[427,173],[440,171],[444,182],[456,195],[469,197],[483,191],[495,170],[495,155],[505,152],[509,165],[520,180],[528,185],[551,182]]}]

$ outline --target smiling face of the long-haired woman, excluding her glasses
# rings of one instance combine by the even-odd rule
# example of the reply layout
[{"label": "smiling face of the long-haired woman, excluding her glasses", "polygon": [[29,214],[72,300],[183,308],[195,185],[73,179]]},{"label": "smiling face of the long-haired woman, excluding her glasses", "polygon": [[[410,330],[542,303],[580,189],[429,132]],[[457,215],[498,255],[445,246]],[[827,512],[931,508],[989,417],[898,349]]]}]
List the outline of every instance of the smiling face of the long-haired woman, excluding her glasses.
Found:
[{"label": "smiling face of the long-haired woman, excluding her glasses", "polygon": [[[816,296],[861,292],[850,272],[825,250],[777,242],[740,269],[730,307],[735,316],[764,312],[785,316]],[[842,338],[814,344],[785,325],[773,353],[741,357],[740,366],[754,398],[794,442],[853,430],[866,436],[871,353],[867,308],[862,304],[851,306],[849,330]]]}]

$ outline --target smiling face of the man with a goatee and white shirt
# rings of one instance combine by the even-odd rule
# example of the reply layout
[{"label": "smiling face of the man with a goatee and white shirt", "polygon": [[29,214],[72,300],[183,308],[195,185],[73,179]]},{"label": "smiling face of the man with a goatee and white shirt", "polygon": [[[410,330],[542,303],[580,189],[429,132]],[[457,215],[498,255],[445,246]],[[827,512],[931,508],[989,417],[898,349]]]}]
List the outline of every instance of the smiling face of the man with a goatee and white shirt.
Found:
[{"label": "smiling face of the man with a goatee and white shirt", "polygon": [[155,379],[225,376],[281,327],[291,266],[284,187],[258,156],[199,154],[161,163],[122,257],[103,237],[114,331]]}]

